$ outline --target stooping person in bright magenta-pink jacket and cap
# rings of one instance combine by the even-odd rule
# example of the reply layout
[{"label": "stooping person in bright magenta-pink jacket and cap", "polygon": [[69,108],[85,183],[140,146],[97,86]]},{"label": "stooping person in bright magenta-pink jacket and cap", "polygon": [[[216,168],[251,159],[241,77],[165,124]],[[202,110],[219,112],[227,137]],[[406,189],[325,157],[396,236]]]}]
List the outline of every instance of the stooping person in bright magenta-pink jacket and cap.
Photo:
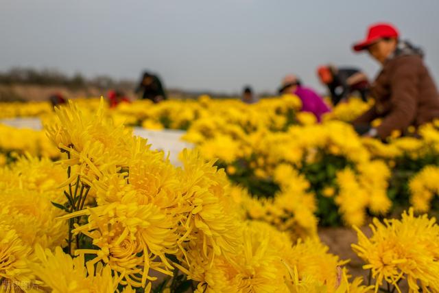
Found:
[{"label": "stooping person in bright magenta-pink jacket and cap", "polygon": [[316,91],[313,91],[313,89],[302,86],[296,75],[290,74],[283,78],[279,93],[297,95],[302,101],[301,111],[313,113],[319,122],[322,121],[322,115],[324,113],[331,112],[329,106],[323,102],[322,97],[320,97]]}]

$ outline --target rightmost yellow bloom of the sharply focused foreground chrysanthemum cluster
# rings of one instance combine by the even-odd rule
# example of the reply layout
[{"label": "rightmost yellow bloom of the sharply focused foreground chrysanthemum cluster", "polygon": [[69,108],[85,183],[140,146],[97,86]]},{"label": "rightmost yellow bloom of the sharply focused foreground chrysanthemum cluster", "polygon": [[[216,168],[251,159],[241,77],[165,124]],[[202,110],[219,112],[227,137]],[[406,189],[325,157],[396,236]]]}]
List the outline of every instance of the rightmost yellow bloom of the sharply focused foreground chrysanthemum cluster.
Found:
[{"label": "rightmost yellow bloom of the sharply focused foreground chrysanthemum cluster", "polygon": [[[236,215],[226,211],[224,187],[228,185],[224,170],[213,167],[213,161],[204,163],[197,152],[184,151],[183,168],[178,176],[182,183],[182,200],[186,212],[182,214],[185,235],[179,242],[202,233],[205,257],[234,253],[239,243]],[[208,247],[211,251],[208,253]]]}]

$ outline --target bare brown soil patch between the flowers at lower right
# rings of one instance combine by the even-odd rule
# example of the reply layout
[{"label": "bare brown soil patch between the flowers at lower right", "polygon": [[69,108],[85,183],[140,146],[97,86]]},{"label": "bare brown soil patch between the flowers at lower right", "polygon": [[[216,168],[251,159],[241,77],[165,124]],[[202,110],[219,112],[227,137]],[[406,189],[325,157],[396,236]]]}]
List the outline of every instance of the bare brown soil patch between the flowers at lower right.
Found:
[{"label": "bare brown soil patch between the flowers at lower right", "polygon": [[[370,236],[370,228],[361,228],[366,236]],[[357,233],[351,228],[319,228],[318,235],[324,244],[329,246],[329,252],[340,256],[340,259],[351,259],[346,265],[353,277],[363,277],[364,283],[368,282],[369,272],[363,270],[361,266],[364,262],[353,252],[352,243],[357,243]],[[401,282],[399,285],[401,292],[408,292],[407,283]],[[396,291],[395,291],[396,292]]]}]

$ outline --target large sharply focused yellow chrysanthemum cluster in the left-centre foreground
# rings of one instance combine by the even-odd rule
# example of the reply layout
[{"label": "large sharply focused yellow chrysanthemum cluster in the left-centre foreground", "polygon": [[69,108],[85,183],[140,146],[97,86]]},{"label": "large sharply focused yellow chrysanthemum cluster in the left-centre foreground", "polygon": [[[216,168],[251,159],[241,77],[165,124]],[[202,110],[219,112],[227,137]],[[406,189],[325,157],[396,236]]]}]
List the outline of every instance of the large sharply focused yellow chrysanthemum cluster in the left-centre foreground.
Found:
[{"label": "large sharply focused yellow chrysanthemum cluster in the left-centre foreground", "polygon": [[209,261],[235,251],[239,226],[226,213],[226,176],[213,162],[186,152],[184,167],[176,168],[145,139],[112,124],[102,107],[95,116],[75,104],[60,108],[48,131],[68,156],[60,161],[71,169],[65,185],[91,189],[97,202],[64,217],[87,215],[88,222],[73,232],[90,237],[98,248],[75,253],[95,255],[91,264],[108,264],[122,285],[150,290],[156,279],[150,270],[173,274],[166,255],[189,263],[191,249]]}]

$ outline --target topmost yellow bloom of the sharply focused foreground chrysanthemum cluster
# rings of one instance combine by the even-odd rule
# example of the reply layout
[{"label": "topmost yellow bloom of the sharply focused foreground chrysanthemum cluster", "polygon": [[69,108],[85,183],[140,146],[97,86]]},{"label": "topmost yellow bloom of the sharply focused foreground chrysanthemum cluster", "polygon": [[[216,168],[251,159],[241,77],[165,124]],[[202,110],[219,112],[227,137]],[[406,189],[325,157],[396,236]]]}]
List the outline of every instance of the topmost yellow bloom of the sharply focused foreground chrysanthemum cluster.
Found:
[{"label": "topmost yellow bloom of the sharply focused foreground chrysanthemum cluster", "polygon": [[90,186],[104,174],[114,174],[126,165],[128,145],[132,143],[130,130],[115,126],[104,115],[103,100],[96,115],[86,113],[71,101],[67,107],[56,108],[56,122],[47,126],[47,134],[69,155],[69,159],[60,161],[62,166],[78,166],[65,185],[80,176],[81,182]]}]

